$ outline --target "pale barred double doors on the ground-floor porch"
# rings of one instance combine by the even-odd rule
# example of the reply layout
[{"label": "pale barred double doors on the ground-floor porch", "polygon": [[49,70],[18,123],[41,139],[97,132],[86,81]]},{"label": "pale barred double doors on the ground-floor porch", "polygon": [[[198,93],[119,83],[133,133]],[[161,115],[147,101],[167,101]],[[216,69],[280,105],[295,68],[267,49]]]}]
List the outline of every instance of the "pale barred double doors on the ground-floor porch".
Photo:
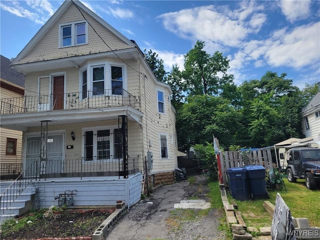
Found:
[{"label": "pale barred double doors on the ground-floor porch", "polygon": [[63,172],[63,134],[48,134],[47,160],[40,161],[41,137],[29,136],[26,139],[25,177],[40,174]]}]

